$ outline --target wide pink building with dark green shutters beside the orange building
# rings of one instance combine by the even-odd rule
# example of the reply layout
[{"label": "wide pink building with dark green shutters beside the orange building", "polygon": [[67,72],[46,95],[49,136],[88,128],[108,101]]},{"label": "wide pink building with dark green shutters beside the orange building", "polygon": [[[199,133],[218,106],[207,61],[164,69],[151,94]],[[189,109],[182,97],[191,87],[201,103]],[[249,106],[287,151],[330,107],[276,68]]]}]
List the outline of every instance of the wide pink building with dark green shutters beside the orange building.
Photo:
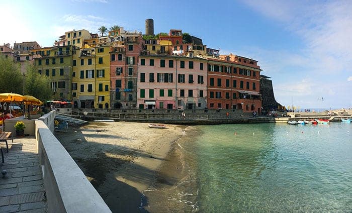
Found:
[{"label": "wide pink building with dark green shutters beside the orange building", "polygon": [[204,109],[207,60],[141,55],[138,61],[139,109]]}]

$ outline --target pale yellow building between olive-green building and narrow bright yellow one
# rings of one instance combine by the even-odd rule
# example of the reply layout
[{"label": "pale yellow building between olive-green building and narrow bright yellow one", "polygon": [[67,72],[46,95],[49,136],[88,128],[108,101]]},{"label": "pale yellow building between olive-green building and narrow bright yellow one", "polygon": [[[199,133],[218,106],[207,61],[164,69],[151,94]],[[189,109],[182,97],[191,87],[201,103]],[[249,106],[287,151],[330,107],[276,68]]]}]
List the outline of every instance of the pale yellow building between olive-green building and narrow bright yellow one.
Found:
[{"label": "pale yellow building between olive-green building and narrow bright yellow one", "polygon": [[[87,46],[87,45],[86,45]],[[96,49],[77,48],[72,56],[72,101],[74,108],[95,107]]]}]

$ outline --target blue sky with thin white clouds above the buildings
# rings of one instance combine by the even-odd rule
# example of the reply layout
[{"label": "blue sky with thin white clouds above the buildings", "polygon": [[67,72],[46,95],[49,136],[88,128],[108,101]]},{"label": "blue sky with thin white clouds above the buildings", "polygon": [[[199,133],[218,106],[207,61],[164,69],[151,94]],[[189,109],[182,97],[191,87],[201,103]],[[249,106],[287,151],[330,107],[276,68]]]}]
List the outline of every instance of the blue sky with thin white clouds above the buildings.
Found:
[{"label": "blue sky with thin white clouds above the buildings", "polygon": [[[73,29],[181,29],[220,54],[252,58],[276,100],[300,109],[352,106],[352,1],[0,0],[0,44],[52,46]],[[5,20],[5,21],[4,21]]]}]

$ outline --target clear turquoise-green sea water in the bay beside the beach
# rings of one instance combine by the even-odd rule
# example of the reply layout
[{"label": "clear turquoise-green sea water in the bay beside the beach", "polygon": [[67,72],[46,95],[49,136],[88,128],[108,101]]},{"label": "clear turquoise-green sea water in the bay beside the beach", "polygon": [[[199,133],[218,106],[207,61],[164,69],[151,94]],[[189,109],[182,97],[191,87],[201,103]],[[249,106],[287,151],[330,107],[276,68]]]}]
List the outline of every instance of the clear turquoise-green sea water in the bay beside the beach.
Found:
[{"label": "clear turquoise-green sea water in the bay beside the beach", "polygon": [[351,124],[198,128],[203,134],[183,144],[194,211],[352,211]]}]

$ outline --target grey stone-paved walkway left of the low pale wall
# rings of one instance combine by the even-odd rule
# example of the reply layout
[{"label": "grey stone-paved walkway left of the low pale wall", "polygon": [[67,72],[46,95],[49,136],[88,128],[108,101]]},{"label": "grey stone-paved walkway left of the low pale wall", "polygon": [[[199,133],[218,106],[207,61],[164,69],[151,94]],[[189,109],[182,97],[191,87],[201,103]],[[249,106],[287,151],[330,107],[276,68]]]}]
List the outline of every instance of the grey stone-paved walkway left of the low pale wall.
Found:
[{"label": "grey stone-paved walkway left of the low pale wall", "polygon": [[[0,212],[47,212],[43,176],[39,165],[38,147],[33,136],[0,142],[5,163],[0,158]],[[5,149],[4,149],[5,148]],[[0,154],[1,156],[1,154]]]}]

